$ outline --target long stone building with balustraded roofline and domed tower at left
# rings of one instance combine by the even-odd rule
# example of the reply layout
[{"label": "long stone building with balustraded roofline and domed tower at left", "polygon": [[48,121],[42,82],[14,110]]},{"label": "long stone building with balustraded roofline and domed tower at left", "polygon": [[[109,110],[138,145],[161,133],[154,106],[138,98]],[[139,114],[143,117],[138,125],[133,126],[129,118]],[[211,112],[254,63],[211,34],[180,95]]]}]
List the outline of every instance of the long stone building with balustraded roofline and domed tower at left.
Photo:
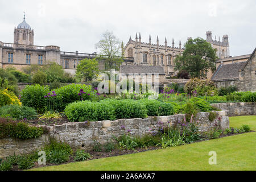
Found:
[{"label": "long stone building with balustraded roofline and domed tower at left", "polygon": [[[93,59],[96,53],[79,53],[60,51],[59,46],[35,46],[34,30],[26,22],[14,28],[14,43],[3,43],[0,41],[0,68],[10,65],[22,70],[32,64],[44,65],[55,62],[62,65],[65,72],[75,74],[77,64],[85,58]],[[123,58],[125,62],[133,62],[134,58]],[[98,60],[100,70],[105,70],[104,59]]]}]

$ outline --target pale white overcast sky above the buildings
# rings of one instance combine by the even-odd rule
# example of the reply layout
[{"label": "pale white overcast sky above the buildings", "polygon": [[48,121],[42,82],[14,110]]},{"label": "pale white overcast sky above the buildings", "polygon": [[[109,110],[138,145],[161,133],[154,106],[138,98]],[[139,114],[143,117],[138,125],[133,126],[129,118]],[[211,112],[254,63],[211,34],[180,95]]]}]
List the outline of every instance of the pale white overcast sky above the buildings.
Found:
[{"label": "pale white overcast sky above the buildings", "polygon": [[160,44],[167,37],[175,46],[188,37],[206,39],[211,30],[215,36],[229,35],[230,55],[253,52],[256,40],[255,0],[0,0],[0,41],[13,43],[14,27],[23,20],[35,32],[35,45],[60,46],[61,51],[95,52],[95,44],[105,30],[126,44],[141,32],[142,42]]}]

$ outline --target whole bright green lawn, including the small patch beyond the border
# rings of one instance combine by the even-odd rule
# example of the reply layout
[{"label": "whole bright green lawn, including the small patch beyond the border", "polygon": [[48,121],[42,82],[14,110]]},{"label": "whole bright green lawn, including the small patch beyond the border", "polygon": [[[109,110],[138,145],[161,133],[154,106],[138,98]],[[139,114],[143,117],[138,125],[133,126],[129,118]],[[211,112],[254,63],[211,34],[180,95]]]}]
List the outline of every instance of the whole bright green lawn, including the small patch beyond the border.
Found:
[{"label": "whole bright green lawn, including the small patch beyond the border", "polygon": [[[255,116],[230,118],[232,127],[241,127],[243,124],[256,130]],[[255,141],[256,133],[246,133],[163,150],[33,170],[256,170]],[[217,165],[209,165],[209,151],[217,152]]]}]

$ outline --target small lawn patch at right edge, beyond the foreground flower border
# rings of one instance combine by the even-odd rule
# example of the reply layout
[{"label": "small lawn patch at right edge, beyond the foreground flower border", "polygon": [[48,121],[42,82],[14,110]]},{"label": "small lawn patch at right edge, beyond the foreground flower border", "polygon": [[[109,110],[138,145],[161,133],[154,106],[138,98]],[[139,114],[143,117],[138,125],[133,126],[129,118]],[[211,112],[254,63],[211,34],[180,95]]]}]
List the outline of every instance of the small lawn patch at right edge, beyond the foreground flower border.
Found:
[{"label": "small lawn patch at right edge, beyond the foreground flower border", "polygon": [[230,117],[229,122],[230,127],[240,128],[242,125],[249,125],[251,130],[256,131],[256,115]]}]

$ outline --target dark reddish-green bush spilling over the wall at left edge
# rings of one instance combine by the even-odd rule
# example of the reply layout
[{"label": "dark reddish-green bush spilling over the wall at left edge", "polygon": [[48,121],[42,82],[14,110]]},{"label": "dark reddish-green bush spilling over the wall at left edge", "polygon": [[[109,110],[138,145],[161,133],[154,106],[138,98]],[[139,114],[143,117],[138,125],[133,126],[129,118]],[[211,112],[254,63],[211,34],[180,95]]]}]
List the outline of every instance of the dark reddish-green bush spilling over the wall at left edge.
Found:
[{"label": "dark reddish-green bush spilling over the wall at left edge", "polygon": [[31,139],[41,137],[48,131],[44,127],[28,126],[27,123],[0,119],[0,138]]}]

